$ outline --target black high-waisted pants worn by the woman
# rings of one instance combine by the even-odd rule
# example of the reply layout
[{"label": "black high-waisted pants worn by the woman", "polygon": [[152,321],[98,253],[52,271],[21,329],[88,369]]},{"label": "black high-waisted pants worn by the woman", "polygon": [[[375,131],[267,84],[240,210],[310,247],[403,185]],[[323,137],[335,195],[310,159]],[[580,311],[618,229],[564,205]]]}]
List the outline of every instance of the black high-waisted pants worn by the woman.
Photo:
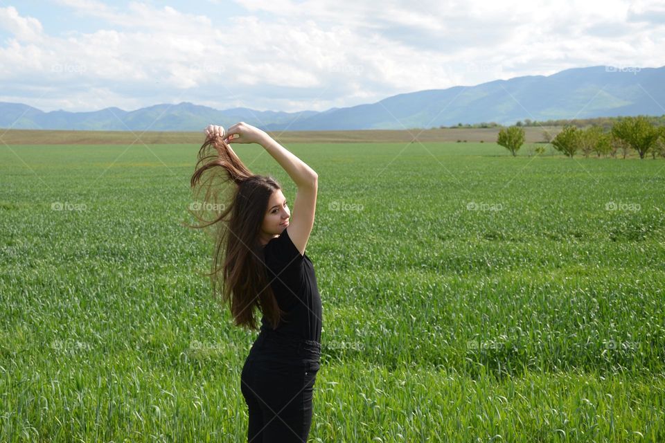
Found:
[{"label": "black high-waisted pants worn by the woman", "polygon": [[240,376],[249,443],[307,442],[321,345],[260,332]]}]

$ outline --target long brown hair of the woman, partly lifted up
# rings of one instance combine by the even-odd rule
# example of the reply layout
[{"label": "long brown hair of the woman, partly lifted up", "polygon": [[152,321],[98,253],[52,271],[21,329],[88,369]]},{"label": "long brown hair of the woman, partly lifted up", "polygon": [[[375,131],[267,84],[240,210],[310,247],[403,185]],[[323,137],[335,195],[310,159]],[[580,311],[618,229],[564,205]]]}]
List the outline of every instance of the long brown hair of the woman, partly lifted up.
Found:
[{"label": "long brown hair of the woman, partly lifted up", "polygon": [[188,226],[212,228],[213,260],[205,275],[213,296],[229,303],[236,326],[258,329],[258,308],[276,329],[285,312],[270,287],[258,237],[270,196],[281,186],[272,177],[252,174],[221,138],[206,138],[194,169],[190,213],[203,224]]}]

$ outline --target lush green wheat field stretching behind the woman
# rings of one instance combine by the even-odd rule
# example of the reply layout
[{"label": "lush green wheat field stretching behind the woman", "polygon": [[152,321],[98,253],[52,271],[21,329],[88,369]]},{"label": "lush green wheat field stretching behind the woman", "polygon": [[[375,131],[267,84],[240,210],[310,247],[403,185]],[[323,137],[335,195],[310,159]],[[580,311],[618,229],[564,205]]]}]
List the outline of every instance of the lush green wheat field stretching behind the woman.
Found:
[{"label": "lush green wheat field stretching behind the woman", "polygon": [[[665,441],[663,159],[285,145],[319,174],[310,442]],[[198,148],[0,145],[0,441],[246,441]]]}]

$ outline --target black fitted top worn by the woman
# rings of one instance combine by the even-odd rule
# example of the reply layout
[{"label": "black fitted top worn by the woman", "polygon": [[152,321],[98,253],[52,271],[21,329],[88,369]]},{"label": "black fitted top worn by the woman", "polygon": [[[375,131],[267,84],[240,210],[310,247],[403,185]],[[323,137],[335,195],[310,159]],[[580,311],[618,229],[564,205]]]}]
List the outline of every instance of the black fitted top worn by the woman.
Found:
[{"label": "black fitted top worn by the woman", "polygon": [[[301,255],[284,228],[263,246],[267,278],[277,304],[286,311],[274,332],[294,340],[321,343],[321,296],[310,257]],[[271,324],[261,318],[261,331]]]}]

